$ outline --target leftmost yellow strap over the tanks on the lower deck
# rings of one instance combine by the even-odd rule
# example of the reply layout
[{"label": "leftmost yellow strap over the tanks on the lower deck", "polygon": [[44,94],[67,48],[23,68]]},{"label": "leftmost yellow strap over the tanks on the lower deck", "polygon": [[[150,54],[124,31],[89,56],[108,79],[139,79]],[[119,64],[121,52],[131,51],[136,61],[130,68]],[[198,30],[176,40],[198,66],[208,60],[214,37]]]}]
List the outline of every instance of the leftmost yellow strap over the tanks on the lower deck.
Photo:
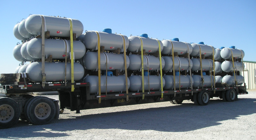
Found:
[{"label": "leftmost yellow strap over the tanks on the lower deck", "polygon": [[[101,96],[101,89],[100,89],[100,34],[98,31],[95,31],[97,34],[97,47],[98,47],[98,81],[99,81],[99,96]],[[107,74],[106,74],[107,75]],[[101,103],[101,97],[99,97],[99,104]]]}]

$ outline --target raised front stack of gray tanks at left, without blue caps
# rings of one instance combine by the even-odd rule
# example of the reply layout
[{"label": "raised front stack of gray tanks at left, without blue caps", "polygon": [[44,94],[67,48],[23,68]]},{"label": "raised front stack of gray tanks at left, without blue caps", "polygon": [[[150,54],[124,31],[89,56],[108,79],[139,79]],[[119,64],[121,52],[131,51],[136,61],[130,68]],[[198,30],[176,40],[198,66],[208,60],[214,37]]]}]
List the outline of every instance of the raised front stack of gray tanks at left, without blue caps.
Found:
[{"label": "raised front stack of gray tanks at left, without blue caps", "polygon": [[[45,62],[46,82],[61,82],[65,80],[65,57],[70,58],[70,23],[69,19],[53,16],[30,15],[13,28],[14,36],[22,41],[13,49],[13,56],[21,61],[14,73],[28,73],[31,82],[42,82],[42,18],[44,18],[45,31],[49,36],[45,39],[45,58],[51,56],[49,62]],[[84,26],[76,19],[71,19],[73,33],[82,35]],[[44,34],[44,33],[43,33]],[[69,38],[69,40],[68,40]],[[73,41],[74,58],[83,58],[86,52],[85,46],[79,41]],[[66,55],[67,52],[67,55]],[[63,62],[64,61],[64,62]],[[24,64],[24,62],[30,62]],[[84,76],[84,68],[79,63],[74,63],[74,80],[78,81]],[[71,80],[71,64],[67,63],[66,80]]]}]

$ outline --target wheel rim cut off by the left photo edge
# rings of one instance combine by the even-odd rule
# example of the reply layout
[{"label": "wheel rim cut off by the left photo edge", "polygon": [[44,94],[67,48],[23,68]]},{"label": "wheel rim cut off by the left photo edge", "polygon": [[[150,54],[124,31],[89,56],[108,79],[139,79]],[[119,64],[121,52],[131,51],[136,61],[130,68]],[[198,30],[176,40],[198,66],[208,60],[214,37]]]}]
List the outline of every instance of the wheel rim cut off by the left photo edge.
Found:
[{"label": "wheel rim cut off by the left photo edge", "polygon": [[12,120],[14,116],[14,110],[10,105],[0,106],[0,122],[6,123]]}]

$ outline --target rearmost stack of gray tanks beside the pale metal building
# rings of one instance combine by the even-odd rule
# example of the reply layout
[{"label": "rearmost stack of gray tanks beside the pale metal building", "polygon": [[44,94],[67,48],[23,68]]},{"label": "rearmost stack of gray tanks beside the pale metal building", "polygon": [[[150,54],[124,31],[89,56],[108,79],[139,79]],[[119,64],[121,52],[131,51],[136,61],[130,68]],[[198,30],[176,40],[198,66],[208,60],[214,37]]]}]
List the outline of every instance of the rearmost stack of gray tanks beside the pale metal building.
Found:
[{"label": "rearmost stack of gray tanks beside the pale metal building", "polygon": [[236,82],[237,85],[243,84],[244,77],[240,75],[240,72],[244,69],[244,64],[241,61],[243,57],[244,51],[236,49],[235,46],[216,49],[214,55],[216,82],[224,82],[229,86],[235,86]]}]

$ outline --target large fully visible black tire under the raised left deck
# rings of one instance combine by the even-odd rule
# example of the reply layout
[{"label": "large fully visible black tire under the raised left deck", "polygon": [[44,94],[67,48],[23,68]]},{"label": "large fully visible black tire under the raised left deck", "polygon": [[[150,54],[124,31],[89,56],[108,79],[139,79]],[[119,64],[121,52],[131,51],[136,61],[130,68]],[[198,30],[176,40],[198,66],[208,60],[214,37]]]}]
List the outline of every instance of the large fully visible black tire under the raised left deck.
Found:
[{"label": "large fully visible black tire under the raised left deck", "polygon": [[56,115],[56,106],[54,102],[47,97],[33,97],[26,107],[26,116],[28,121],[36,124],[47,124]]}]

